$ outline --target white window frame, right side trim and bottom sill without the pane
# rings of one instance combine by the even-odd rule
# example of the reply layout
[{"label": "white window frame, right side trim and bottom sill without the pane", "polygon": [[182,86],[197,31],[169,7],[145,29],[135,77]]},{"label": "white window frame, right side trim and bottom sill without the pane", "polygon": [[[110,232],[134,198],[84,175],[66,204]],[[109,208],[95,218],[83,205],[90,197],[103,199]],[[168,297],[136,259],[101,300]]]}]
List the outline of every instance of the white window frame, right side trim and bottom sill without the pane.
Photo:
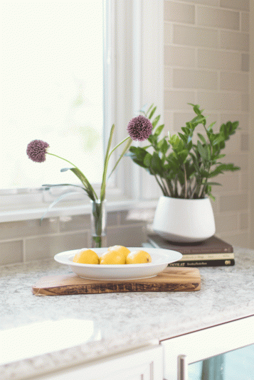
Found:
[{"label": "white window frame, right side trim and bottom sill without the pane", "polygon": [[[116,126],[114,144],[125,139],[129,119],[144,104],[156,104],[163,115],[164,0],[106,0],[105,11],[110,26],[110,48],[104,51],[106,146],[112,124]],[[96,187],[99,190],[100,186]],[[0,190],[0,222],[40,218],[58,192],[56,188],[50,192],[43,188]],[[115,173],[115,187],[107,187],[107,207],[110,211],[155,207],[159,195],[154,178],[130,158],[123,158]],[[47,216],[88,212],[89,198],[77,192],[72,200],[60,201]]]}]

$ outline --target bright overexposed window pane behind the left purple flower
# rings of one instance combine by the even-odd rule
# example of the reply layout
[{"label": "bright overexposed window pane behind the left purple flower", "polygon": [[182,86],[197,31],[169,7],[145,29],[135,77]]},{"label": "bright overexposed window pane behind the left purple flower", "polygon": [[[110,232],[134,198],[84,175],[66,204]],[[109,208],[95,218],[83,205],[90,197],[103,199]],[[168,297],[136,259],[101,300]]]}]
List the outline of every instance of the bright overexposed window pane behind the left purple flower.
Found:
[{"label": "bright overexposed window pane behind the left purple flower", "polygon": [[0,188],[77,183],[68,163],[26,155],[35,139],[102,178],[103,0],[6,1],[3,5]]}]

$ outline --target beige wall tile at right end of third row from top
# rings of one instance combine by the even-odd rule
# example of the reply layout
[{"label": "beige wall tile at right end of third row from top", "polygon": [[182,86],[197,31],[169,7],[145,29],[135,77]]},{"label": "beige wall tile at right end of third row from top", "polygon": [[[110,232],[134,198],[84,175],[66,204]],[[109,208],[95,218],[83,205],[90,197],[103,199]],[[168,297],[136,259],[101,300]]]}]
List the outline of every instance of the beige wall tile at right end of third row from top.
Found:
[{"label": "beige wall tile at right end of third row from top", "polygon": [[249,50],[249,34],[231,31],[220,31],[220,48],[228,50]]}]

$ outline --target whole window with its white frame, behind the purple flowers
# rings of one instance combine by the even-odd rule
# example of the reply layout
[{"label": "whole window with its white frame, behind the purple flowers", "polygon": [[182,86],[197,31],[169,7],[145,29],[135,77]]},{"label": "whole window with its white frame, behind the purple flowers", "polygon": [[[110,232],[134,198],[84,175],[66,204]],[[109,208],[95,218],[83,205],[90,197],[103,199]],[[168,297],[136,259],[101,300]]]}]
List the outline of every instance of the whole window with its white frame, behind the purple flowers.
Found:
[{"label": "whole window with its white frame, behind the purple flowers", "polygon": [[[68,163],[59,158],[29,160],[26,146],[33,139],[48,142],[51,153],[100,183],[103,146],[112,124],[115,144],[127,136],[129,119],[144,104],[157,104],[157,112],[163,114],[163,9],[162,0],[4,3],[3,212],[23,203],[23,218],[28,219],[31,202],[35,209],[58,196],[55,188],[51,194],[33,188],[78,183],[73,173],[60,173]],[[137,199],[157,197],[154,178],[129,158],[122,159],[108,185],[107,200],[127,199],[128,207],[129,201],[137,205]],[[70,215],[84,211],[84,200],[79,210],[70,206]],[[6,217],[3,212],[0,222],[11,220],[11,212],[7,210]],[[16,215],[21,217],[20,212]]]}]

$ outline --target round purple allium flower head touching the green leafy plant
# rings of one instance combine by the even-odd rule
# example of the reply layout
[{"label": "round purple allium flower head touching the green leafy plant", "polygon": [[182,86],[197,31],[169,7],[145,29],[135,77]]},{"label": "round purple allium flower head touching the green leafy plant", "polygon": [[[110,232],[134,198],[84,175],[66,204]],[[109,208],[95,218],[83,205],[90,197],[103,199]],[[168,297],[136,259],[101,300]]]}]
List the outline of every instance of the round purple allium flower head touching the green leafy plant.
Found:
[{"label": "round purple allium flower head touching the green leafy plant", "polygon": [[129,121],[127,131],[132,140],[144,141],[152,134],[152,123],[146,117],[139,115]]}]

